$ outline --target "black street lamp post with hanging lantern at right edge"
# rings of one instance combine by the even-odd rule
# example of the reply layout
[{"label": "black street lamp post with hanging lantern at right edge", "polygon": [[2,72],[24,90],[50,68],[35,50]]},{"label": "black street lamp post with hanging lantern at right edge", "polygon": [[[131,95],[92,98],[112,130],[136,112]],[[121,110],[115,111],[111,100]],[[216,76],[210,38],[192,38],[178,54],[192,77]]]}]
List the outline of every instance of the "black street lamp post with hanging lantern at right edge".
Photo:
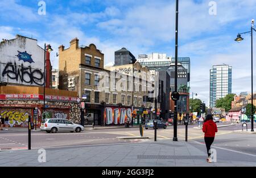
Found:
[{"label": "black street lamp post with hanging lantern at right edge", "polygon": [[243,38],[241,37],[242,34],[251,33],[251,132],[254,132],[253,124],[254,124],[254,113],[253,113],[253,31],[256,32],[254,28],[254,19],[251,20],[251,31],[238,33],[237,38],[235,41],[240,43]]}]

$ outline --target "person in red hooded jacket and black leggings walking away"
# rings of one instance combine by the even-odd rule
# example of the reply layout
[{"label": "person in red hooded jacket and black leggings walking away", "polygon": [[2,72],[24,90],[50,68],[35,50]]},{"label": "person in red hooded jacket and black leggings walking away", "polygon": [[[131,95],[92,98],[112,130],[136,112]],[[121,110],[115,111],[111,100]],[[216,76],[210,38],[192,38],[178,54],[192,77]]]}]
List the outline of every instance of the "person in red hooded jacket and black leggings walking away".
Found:
[{"label": "person in red hooded jacket and black leggings walking away", "polygon": [[212,163],[212,158],[210,156],[209,151],[210,151],[210,146],[214,141],[215,133],[218,132],[217,125],[213,122],[212,115],[207,115],[203,125],[203,132],[204,132],[204,141],[207,147],[207,154],[208,154],[207,162]]}]

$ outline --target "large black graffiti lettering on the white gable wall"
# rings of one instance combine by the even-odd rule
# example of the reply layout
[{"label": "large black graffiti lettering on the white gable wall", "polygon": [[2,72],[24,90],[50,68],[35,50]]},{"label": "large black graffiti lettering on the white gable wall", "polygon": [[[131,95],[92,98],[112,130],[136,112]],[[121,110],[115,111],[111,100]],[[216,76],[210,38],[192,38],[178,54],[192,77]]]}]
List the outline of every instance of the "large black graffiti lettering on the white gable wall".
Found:
[{"label": "large black graffiti lettering on the white gable wall", "polygon": [[12,62],[8,62],[3,69],[2,77],[7,75],[10,79],[15,79],[16,82],[25,82],[30,84],[37,84],[39,86],[43,86],[43,77],[44,73],[39,69],[32,69],[31,66],[24,67],[23,64],[21,66],[17,66],[16,62],[14,64]]}]

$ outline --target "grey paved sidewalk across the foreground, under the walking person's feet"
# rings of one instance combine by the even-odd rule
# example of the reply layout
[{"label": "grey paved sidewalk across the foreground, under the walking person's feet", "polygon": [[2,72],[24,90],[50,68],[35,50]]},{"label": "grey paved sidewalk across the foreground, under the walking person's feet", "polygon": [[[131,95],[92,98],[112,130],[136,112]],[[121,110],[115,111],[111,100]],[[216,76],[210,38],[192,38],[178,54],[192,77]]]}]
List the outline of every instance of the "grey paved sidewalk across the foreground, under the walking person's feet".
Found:
[{"label": "grey paved sidewalk across the foreground, under the walking person's feet", "polygon": [[141,143],[71,146],[46,149],[46,162],[39,163],[38,150],[0,152],[0,166],[256,166],[256,155],[216,148],[217,162],[206,162],[205,145],[196,142],[160,140]]}]

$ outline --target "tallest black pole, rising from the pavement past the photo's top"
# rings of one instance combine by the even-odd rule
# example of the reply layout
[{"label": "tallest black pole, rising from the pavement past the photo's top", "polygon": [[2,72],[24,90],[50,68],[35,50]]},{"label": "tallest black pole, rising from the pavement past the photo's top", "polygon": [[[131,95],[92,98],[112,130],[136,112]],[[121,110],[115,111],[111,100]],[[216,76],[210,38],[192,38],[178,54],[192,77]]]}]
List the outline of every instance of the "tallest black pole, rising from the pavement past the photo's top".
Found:
[{"label": "tallest black pole, rising from the pavement past the photo's top", "polygon": [[[177,52],[178,52],[178,29],[179,29],[179,0],[176,0],[176,29],[175,29],[175,87],[174,91],[177,92]],[[177,142],[177,100],[174,101],[174,138],[173,141]]]}]

